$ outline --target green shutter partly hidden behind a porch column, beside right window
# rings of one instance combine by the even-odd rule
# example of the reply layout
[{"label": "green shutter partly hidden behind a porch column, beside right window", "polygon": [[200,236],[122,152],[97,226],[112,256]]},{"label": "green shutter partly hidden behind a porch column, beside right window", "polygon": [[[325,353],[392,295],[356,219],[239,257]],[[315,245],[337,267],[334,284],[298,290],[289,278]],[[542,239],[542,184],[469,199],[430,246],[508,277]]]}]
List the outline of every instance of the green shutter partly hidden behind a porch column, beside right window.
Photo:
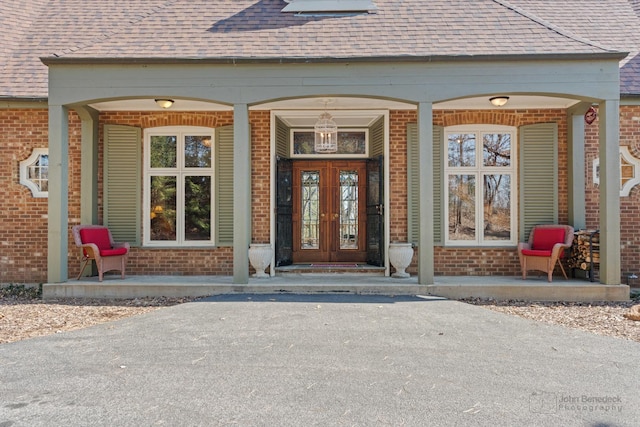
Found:
[{"label": "green shutter partly hidden behind a porch column, beside right window", "polygon": [[[442,146],[444,131],[441,126],[433,127],[433,241],[442,244]],[[408,185],[408,226],[409,240],[417,244],[420,235],[420,161],[418,158],[418,126],[407,125],[407,185]]]}]

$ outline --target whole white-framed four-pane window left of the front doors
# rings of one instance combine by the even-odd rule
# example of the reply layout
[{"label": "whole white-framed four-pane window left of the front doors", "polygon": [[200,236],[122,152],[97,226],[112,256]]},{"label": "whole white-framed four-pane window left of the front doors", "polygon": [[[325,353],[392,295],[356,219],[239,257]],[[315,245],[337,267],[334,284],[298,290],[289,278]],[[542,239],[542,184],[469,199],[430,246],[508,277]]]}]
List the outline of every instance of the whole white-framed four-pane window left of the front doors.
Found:
[{"label": "whole white-framed four-pane window left of the front doors", "polygon": [[162,127],[145,132],[144,243],[214,243],[214,130]]}]

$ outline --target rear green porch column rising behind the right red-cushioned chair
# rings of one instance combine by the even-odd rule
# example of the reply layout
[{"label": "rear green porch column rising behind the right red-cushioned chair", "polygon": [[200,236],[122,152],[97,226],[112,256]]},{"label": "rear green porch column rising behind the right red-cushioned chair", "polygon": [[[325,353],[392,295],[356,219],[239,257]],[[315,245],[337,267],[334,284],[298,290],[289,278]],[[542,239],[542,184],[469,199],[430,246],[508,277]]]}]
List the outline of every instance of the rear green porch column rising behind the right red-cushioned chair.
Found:
[{"label": "rear green porch column rising behind the right red-cushioned chair", "polygon": [[587,226],[585,195],[584,113],[591,104],[583,102],[567,111],[569,224],[578,230]]}]

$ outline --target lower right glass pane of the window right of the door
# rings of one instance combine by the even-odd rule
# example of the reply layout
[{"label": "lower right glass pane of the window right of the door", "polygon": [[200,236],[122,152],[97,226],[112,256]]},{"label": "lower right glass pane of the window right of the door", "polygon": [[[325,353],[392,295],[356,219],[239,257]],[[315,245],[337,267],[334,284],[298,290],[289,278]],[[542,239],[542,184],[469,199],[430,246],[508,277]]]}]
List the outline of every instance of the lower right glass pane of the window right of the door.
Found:
[{"label": "lower right glass pane of the window right of the door", "polygon": [[511,240],[511,175],[484,176],[484,239]]}]

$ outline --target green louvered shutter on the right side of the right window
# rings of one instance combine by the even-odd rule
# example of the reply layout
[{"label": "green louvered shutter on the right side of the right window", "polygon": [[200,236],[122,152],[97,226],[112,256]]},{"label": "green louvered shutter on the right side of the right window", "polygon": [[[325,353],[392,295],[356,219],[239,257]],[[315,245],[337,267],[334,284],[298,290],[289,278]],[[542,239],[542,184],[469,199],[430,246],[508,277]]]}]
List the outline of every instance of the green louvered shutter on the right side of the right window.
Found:
[{"label": "green louvered shutter on the right side of the right window", "polygon": [[558,126],[520,128],[520,240],[536,224],[558,222]]}]

